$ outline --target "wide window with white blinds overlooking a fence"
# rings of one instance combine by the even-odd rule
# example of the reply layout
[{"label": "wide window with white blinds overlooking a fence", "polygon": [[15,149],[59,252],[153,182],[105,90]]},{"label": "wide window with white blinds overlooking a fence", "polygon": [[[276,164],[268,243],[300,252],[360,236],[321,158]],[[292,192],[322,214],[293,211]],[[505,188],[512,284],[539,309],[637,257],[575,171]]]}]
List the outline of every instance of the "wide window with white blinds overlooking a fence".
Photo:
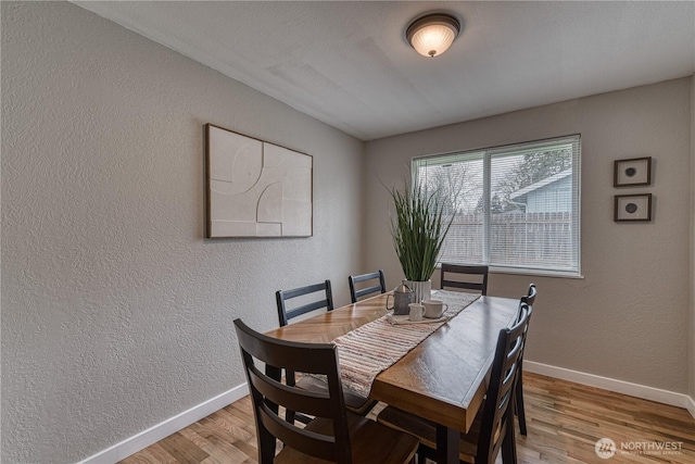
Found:
[{"label": "wide window with white blinds overlooking a fence", "polygon": [[580,274],[580,136],[413,160],[452,226],[441,262]]}]

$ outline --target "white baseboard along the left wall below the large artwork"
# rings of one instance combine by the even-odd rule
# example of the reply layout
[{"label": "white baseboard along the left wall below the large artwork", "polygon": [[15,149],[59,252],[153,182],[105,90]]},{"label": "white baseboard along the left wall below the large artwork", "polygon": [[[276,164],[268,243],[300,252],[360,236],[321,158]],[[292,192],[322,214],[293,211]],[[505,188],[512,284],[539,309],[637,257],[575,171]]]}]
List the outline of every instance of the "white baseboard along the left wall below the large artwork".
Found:
[{"label": "white baseboard along the left wall below the large artwork", "polygon": [[152,443],[156,443],[163,438],[188,427],[194,422],[208,416],[210,414],[218,411],[235,401],[249,394],[249,387],[244,383],[239,387],[225,391],[197,406],[191,407],[188,411],[184,411],[180,414],[175,415],[155,426],[148,428],[130,438],[123,440],[113,447],[106,448],[103,451],[98,452],[77,464],[105,464],[116,463],[121,460],[128,457],[129,455],[137,453],[140,450],[149,447]]}]

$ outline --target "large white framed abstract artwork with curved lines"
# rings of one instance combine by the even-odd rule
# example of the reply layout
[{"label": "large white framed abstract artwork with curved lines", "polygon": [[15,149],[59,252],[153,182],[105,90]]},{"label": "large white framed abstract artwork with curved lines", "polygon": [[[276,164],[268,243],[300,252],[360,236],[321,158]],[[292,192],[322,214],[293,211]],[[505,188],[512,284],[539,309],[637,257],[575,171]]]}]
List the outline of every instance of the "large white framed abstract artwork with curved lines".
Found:
[{"label": "large white framed abstract artwork with curved lines", "polygon": [[205,125],[207,237],[309,237],[313,158]]}]

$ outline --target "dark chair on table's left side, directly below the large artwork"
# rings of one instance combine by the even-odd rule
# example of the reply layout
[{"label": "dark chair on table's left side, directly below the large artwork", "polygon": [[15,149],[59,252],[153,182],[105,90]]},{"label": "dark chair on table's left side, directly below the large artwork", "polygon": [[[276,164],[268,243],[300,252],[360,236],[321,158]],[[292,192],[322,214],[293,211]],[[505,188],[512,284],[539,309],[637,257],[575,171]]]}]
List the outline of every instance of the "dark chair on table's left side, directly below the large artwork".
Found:
[{"label": "dark chair on table's left side, directly below the large artwork", "polygon": [[[318,297],[316,294],[318,294]],[[321,284],[314,284],[295,288],[292,290],[278,290],[275,293],[275,297],[278,306],[278,319],[280,323],[280,327],[285,327],[286,325],[288,325],[290,319],[303,314],[311,313],[312,311],[317,311],[324,308],[326,308],[326,311],[333,311],[333,296],[331,291],[330,280],[326,280]],[[306,303],[306,299],[311,297],[315,298],[314,301]],[[289,309],[289,303],[291,303],[289,300],[293,300],[295,298],[300,299],[302,303]],[[295,380],[294,373],[289,371],[286,373],[286,377],[288,385],[296,385],[299,388],[305,390],[325,392],[328,389],[328,385],[325,381],[321,381],[320,379],[312,376],[302,376],[299,380]],[[367,415],[369,411],[371,411],[371,409],[377,404],[377,401],[370,398],[362,397],[351,391],[345,391],[344,397],[345,406],[348,407],[348,410],[359,415]],[[294,411],[288,410],[287,421],[289,423],[293,423],[295,418],[304,424],[311,421],[311,417],[307,417],[303,414],[296,414],[294,413]]]}]

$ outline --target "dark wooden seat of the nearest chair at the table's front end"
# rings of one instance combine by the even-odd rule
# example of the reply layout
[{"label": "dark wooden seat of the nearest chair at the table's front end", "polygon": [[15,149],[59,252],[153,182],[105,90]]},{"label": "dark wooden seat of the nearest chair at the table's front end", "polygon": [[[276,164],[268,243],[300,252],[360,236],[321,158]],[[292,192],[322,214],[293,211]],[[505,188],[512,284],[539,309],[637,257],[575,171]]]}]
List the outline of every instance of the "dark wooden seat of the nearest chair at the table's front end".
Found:
[{"label": "dark wooden seat of the nearest chair at the table's front end", "polygon": [[[359,464],[407,463],[413,460],[418,448],[418,439],[392,428],[377,424],[365,417],[348,413],[348,427],[352,447],[352,461]],[[332,434],[332,423],[326,418],[315,418],[305,430],[323,435]],[[275,457],[277,464],[324,464],[329,461],[308,456],[286,447]]]}]

